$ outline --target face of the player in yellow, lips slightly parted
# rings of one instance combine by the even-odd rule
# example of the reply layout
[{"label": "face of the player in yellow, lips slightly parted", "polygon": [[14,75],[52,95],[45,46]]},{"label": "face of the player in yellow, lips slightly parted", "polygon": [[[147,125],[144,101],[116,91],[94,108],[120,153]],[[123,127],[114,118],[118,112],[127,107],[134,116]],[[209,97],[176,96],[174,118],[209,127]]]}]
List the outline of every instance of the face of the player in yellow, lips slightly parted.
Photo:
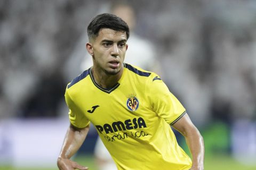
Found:
[{"label": "face of the player in yellow, lips slightly parted", "polygon": [[111,29],[101,29],[98,37],[86,44],[93,58],[93,70],[116,75],[123,69],[126,53],[126,33]]}]

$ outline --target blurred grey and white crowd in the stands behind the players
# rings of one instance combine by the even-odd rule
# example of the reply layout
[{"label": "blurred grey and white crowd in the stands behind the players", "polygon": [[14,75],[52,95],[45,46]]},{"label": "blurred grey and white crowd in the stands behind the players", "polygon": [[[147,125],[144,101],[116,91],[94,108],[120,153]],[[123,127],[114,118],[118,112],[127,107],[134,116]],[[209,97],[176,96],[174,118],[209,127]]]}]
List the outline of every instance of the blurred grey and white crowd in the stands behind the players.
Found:
[{"label": "blurred grey and white crowd in the stands behind the players", "polygon": [[[67,116],[63,95],[82,72],[86,25],[116,2],[0,1],[0,119]],[[255,121],[256,1],[125,3],[197,126]]]}]

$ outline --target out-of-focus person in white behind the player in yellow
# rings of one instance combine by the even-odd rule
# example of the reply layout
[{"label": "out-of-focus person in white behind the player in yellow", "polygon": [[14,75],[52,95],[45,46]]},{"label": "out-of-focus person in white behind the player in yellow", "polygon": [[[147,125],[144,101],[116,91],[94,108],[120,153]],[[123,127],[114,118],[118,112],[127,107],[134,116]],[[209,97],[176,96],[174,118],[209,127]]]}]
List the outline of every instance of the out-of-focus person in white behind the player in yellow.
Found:
[{"label": "out-of-focus person in white behind the player in yellow", "polygon": [[[131,6],[126,4],[117,4],[111,8],[111,13],[122,18],[129,25],[131,31],[130,38],[127,41],[128,49],[125,55],[124,63],[129,63],[139,66],[142,69],[159,73],[159,66],[155,60],[155,50],[153,45],[149,41],[142,39],[132,32],[135,25],[135,17]],[[86,57],[86,60],[83,62],[83,67],[87,69],[91,66],[91,58]],[[113,159],[100,138],[97,139],[94,149],[94,156],[99,170],[117,169]]]}]

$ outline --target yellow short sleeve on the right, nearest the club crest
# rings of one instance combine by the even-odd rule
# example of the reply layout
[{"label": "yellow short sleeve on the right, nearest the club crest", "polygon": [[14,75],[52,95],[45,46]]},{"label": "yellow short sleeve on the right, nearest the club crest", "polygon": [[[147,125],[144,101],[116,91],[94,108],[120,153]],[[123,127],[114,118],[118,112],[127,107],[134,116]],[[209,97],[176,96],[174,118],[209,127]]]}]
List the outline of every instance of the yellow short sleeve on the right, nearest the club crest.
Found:
[{"label": "yellow short sleeve on the right, nearest the club crest", "polygon": [[162,79],[153,74],[150,84],[150,103],[153,111],[172,125],[177,122],[184,114],[186,109],[180,101],[169,91]]}]

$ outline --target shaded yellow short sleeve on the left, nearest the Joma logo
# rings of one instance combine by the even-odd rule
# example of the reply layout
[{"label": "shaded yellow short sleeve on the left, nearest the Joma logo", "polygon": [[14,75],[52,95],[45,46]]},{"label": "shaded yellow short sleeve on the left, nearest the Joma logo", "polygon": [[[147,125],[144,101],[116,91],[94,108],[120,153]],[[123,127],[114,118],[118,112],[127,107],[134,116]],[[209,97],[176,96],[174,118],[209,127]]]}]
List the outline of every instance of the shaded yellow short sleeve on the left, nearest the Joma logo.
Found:
[{"label": "shaded yellow short sleeve on the left, nearest the Joma logo", "polygon": [[76,106],[75,102],[71,99],[68,89],[65,92],[65,100],[69,108],[69,121],[76,128],[85,128],[90,124],[90,121],[85,117],[81,109]]}]

